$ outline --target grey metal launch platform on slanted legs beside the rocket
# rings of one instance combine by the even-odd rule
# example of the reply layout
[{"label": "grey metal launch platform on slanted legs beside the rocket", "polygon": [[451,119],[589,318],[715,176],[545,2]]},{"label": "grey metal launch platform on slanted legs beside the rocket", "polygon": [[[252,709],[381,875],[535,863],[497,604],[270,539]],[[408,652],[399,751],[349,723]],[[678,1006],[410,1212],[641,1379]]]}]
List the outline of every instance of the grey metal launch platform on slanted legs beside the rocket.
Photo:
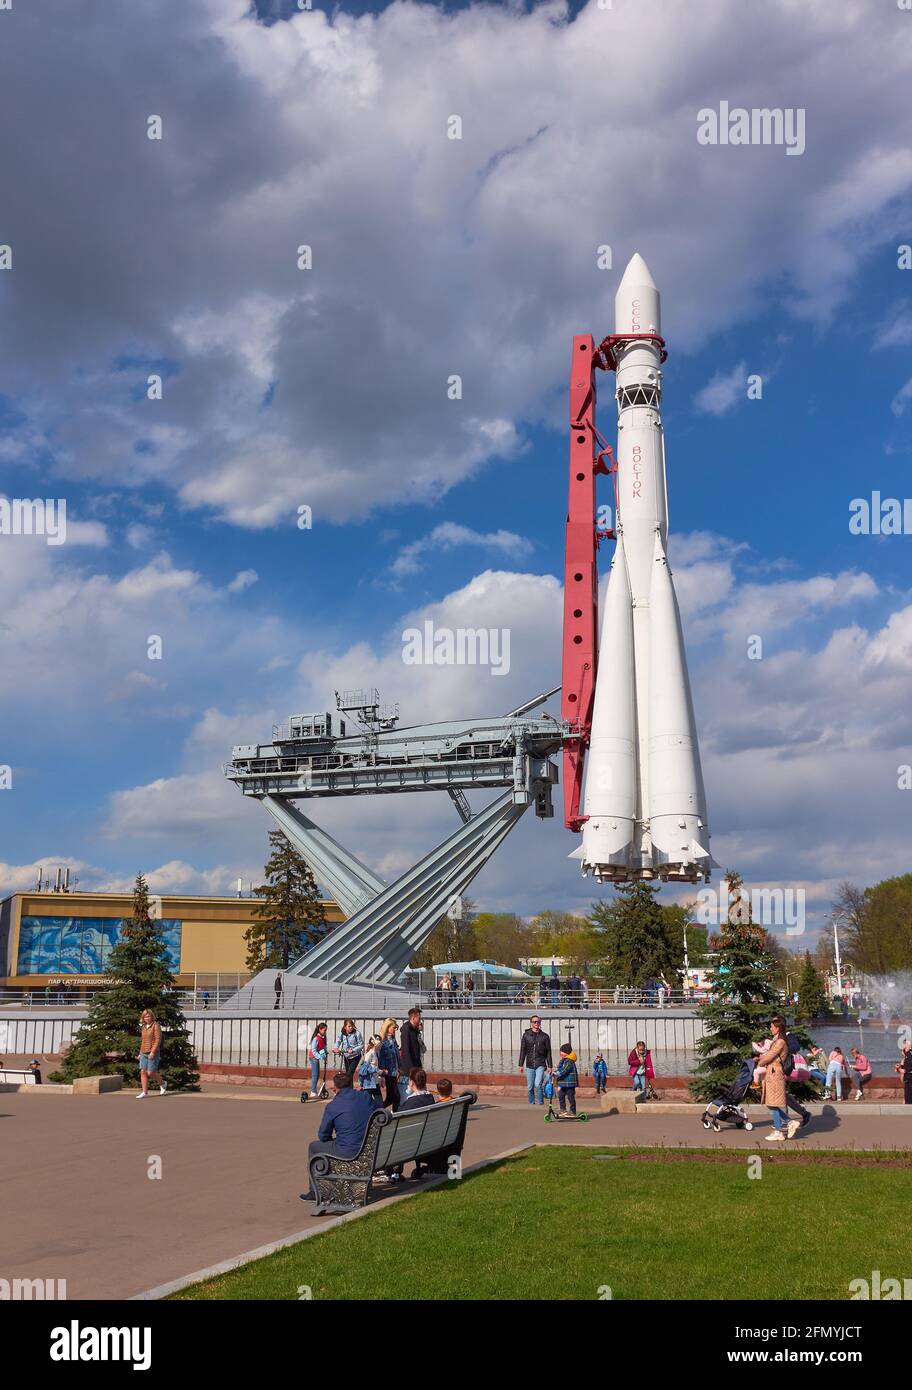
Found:
[{"label": "grey metal launch platform on slanted legs beside the rocket", "polygon": [[[450,903],[528,808],[542,819],[553,816],[557,766],[552,759],[569,730],[560,720],[530,717],[530,712],[555,694],[548,691],[491,719],[398,728],[398,706],[382,706],[375,689],[350,691],[336,694],[335,714],[292,716],[272,730],[270,744],[234,746],[225,776],[245,796],[263,803],[348,916],[289,966],[289,986],[293,980],[313,986],[314,1002],[320,988],[349,986],[345,995],[352,995],[352,1008],[366,988],[395,987]],[[467,791],[498,788],[500,796],[473,812]],[[302,802],[325,796],[423,791],[445,791],[460,824],[392,883],[300,809]],[[250,997],[271,1004],[274,980],[275,970],[261,972],[235,995],[234,1006],[247,1009]],[[389,988],[386,994],[393,1002]]]}]

